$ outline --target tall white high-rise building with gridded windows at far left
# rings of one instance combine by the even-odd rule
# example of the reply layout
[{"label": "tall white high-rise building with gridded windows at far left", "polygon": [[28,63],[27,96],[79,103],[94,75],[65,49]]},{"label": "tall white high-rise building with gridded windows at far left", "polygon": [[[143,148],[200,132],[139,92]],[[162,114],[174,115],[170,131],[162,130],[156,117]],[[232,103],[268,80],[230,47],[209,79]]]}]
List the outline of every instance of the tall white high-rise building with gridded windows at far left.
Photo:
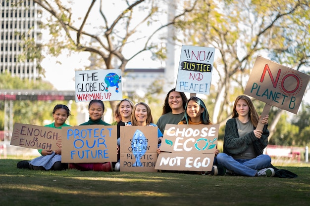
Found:
[{"label": "tall white high-rise building with gridded windows at far left", "polygon": [[37,60],[20,61],[19,56],[25,49],[20,46],[24,39],[40,43],[41,8],[33,0],[1,0],[0,12],[0,72],[36,80],[39,77]]}]

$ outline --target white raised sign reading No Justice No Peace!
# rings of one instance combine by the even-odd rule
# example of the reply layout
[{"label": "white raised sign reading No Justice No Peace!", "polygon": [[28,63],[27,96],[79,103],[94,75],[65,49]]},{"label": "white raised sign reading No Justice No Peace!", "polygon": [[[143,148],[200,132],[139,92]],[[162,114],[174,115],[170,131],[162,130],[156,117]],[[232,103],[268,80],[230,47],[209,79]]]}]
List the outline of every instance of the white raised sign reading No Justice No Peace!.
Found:
[{"label": "white raised sign reading No Justice No Peace!", "polygon": [[175,90],[209,94],[215,48],[182,45]]}]

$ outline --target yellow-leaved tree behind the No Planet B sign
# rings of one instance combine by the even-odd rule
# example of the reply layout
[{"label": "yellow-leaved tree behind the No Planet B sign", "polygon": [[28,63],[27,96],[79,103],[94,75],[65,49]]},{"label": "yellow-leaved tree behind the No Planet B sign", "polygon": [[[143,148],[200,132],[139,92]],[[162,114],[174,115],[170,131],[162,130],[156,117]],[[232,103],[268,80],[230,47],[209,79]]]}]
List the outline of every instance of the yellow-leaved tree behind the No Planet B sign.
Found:
[{"label": "yellow-leaved tree behind the No Planet B sign", "polygon": [[[256,56],[302,70],[310,64],[309,0],[199,0],[177,25],[186,44],[215,47],[213,122],[223,123],[243,93]],[[238,87],[240,92],[235,92]],[[224,111],[229,111],[228,115]],[[229,114],[230,113],[230,114]],[[282,110],[276,110],[278,120]],[[273,130],[277,121],[269,126]]]}]

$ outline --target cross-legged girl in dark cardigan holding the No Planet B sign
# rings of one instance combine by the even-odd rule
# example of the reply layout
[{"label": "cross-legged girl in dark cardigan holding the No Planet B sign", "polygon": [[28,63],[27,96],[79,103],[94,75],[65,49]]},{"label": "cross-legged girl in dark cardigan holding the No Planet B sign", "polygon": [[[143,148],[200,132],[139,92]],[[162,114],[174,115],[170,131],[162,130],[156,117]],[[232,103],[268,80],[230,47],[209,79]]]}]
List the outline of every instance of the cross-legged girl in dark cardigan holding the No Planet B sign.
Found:
[{"label": "cross-legged girl in dark cardigan holding the No Planet B sign", "polygon": [[239,175],[274,176],[274,169],[266,168],[271,158],[262,154],[268,144],[268,117],[261,121],[263,129],[256,129],[259,117],[252,100],[245,95],[238,96],[232,119],[225,127],[224,153],[217,155],[217,162]]}]

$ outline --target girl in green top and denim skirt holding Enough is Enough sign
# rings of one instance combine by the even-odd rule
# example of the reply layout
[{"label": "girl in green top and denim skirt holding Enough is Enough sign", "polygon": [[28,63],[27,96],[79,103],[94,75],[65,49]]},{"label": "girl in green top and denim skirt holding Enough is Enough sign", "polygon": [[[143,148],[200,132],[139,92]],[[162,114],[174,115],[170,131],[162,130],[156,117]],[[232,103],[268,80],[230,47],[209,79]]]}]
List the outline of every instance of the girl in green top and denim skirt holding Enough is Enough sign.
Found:
[{"label": "girl in green top and denim skirt holding Enough is Enough sign", "polygon": [[[57,104],[52,112],[54,122],[45,126],[52,128],[61,128],[62,126],[70,126],[65,124],[70,116],[70,110],[66,105]],[[68,164],[61,163],[61,149],[38,150],[42,155],[31,161],[21,161],[17,163],[17,168],[29,168],[34,170],[63,170],[68,168]]]}]

